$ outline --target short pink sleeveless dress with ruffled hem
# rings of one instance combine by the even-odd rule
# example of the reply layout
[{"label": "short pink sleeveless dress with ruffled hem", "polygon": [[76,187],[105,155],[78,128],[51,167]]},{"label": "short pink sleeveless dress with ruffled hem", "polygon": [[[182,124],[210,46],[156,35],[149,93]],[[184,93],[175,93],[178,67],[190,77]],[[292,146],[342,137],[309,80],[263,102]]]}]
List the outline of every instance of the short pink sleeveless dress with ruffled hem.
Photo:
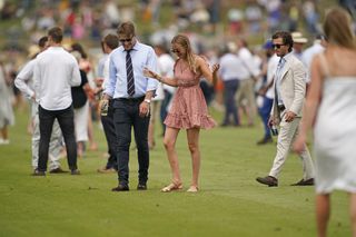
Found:
[{"label": "short pink sleeveless dress with ruffled hem", "polygon": [[199,86],[201,75],[196,75],[178,60],[175,66],[175,79],[178,89],[172,99],[171,108],[166,117],[165,125],[170,128],[209,129],[216,126],[208,115],[208,107]]}]

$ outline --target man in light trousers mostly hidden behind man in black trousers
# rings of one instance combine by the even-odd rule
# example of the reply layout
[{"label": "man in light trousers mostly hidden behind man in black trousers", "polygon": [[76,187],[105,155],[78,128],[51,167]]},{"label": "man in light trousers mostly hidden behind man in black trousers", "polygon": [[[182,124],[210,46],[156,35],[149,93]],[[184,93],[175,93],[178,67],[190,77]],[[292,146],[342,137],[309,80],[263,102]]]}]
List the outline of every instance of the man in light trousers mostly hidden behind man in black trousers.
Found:
[{"label": "man in light trousers mostly hidden behind man in black trousers", "polygon": [[[41,37],[38,42],[40,52],[44,51],[48,47],[48,37]],[[36,93],[33,89],[33,68],[36,63],[36,58],[30,60],[20,71],[20,73],[14,79],[14,85],[21,92],[31,101],[31,121],[33,127],[32,132],[32,168],[33,174],[36,174],[38,167],[38,148],[40,144],[40,128],[39,128],[39,118],[38,118],[38,102],[36,102]],[[62,135],[60,132],[59,125],[55,120],[50,148],[49,148],[49,159],[50,159],[50,172],[51,174],[61,174],[66,172],[60,168],[60,149],[61,149]]]}]

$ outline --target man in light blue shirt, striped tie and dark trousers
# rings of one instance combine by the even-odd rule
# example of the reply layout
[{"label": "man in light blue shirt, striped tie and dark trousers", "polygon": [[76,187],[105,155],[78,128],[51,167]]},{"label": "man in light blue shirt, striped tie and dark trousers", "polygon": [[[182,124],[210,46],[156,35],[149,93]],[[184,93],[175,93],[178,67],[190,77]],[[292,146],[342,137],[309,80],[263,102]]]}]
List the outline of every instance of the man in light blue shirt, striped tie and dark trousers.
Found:
[{"label": "man in light blue shirt, striped tie and dark trousers", "polygon": [[102,101],[102,105],[106,105],[108,99],[113,99],[119,185],[112,188],[112,191],[129,190],[128,164],[132,127],[139,162],[137,189],[146,190],[149,167],[149,106],[158,82],[145,77],[144,68],[157,70],[157,58],[151,47],[136,39],[132,22],[121,23],[118,37],[121,46],[110,53],[109,82]]}]

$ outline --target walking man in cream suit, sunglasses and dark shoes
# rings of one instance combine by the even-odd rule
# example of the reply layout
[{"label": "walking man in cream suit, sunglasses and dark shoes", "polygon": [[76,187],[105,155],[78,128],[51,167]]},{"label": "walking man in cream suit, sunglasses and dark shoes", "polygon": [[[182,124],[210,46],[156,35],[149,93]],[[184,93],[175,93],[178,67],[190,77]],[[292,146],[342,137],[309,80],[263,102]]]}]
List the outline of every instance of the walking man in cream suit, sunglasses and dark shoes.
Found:
[{"label": "walking man in cream suit, sunglasses and dark shoes", "polygon": [[[278,186],[278,175],[287,159],[290,146],[301,119],[301,110],[306,92],[306,68],[293,53],[293,38],[289,32],[278,31],[273,36],[276,55],[280,57],[275,75],[275,100],[270,112],[269,126],[279,124],[277,154],[266,177],[256,180],[269,187]],[[308,148],[300,155],[303,161],[303,179],[294,185],[314,185],[314,167]]]}]

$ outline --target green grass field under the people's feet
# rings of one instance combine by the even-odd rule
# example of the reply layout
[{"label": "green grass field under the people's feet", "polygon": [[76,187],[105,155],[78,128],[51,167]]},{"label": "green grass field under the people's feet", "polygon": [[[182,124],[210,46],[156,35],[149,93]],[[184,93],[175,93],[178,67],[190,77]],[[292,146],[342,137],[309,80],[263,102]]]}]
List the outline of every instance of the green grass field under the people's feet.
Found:
[{"label": "green grass field under the people's feet", "polygon": [[[219,121],[220,115],[214,112]],[[275,145],[257,147],[261,125],[201,131],[200,191],[162,194],[170,180],[161,145],[151,151],[147,191],[137,191],[137,157],[131,152],[129,192],[112,192],[117,175],[96,170],[106,159],[102,131],[98,151],[79,160],[81,176],[31,177],[27,112],[17,112],[11,144],[0,146],[0,236],[316,236],[314,188],[291,187],[301,164],[290,155],[278,188],[255,181],[267,175]],[[158,134],[158,132],[157,132]],[[190,157],[181,132],[178,155],[185,190]],[[67,161],[62,160],[67,169]],[[350,236],[348,197],[333,198],[329,236]]]}]

